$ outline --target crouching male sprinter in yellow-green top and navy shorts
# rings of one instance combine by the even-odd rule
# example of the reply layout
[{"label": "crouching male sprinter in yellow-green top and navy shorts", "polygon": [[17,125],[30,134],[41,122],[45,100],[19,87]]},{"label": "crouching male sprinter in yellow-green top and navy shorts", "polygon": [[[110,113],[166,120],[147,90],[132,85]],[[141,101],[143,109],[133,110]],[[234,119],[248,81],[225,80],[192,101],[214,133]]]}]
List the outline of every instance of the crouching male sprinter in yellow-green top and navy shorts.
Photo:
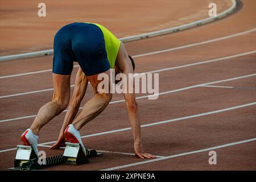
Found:
[{"label": "crouching male sprinter in yellow-green top and navy shorts", "polygon": [[[24,145],[31,145],[38,154],[40,129],[65,110],[69,104],[60,137],[52,148],[63,146],[67,138],[70,142],[80,143],[86,155],[79,131],[87,122],[97,117],[112,100],[110,88],[98,90],[98,84],[101,82],[97,80],[98,75],[106,73],[110,78],[110,68],[113,68],[116,73],[122,72],[128,78],[128,74],[134,72],[135,65],[133,59],[127,55],[125,46],[109,30],[96,23],[71,23],[60,28],[54,38],[53,50],[52,101],[40,108],[30,129],[21,135],[21,140]],[[80,68],[69,103],[73,61],[77,61]],[[94,96],[86,102],[81,113],[75,118],[88,81],[93,86]],[[125,89],[129,90],[128,84],[124,85]],[[108,92],[105,92],[106,89]],[[124,93],[124,97],[133,131],[135,155],[142,159],[154,158],[154,155],[147,154],[142,148],[141,124],[135,94]]]}]

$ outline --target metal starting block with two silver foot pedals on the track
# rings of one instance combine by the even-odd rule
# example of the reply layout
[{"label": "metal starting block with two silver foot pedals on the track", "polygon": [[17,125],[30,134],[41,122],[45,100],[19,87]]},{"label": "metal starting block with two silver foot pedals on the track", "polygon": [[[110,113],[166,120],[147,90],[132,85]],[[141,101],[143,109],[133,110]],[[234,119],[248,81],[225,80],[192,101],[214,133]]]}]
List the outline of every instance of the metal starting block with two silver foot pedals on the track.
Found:
[{"label": "metal starting block with two silver foot pedals on the track", "polygon": [[36,169],[42,169],[50,166],[56,166],[59,164],[73,164],[80,165],[89,162],[87,158],[92,158],[95,156],[102,155],[96,150],[87,150],[86,155],[82,150],[79,143],[69,143],[66,142],[66,147],[63,155],[55,155],[46,158],[44,164],[38,163],[38,156],[36,156],[35,151],[31,146],[17,146],[17,152],[14,160],[14,167],[9,168],[12,170],[19,171],[31,171]]}]

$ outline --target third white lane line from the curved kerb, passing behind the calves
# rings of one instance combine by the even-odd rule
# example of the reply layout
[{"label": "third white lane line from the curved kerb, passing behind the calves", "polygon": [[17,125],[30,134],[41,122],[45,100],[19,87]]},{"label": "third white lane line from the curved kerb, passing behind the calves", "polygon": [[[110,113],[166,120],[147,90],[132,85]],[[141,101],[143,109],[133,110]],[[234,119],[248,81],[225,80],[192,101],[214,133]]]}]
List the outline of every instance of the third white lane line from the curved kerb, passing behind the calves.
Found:
[{"label": "third white lane line from the curved kerb, passing behind the calves", "polygon": [[[170,90],[170,91],[167,91],[167,92],[161,92],[161,93],[158,93],[158,94],[152,94],[152,95],[136,97],[136,100],[142,99],[142,98],[148,98],[148,97],[161,96],[161,95],[164,95],[164,94],[180,92],[180,91],[183,91],[183,90],[188,90],[188,89],[193,89],[193,88],[198,88],[198,87],[203,86],[203,85],[217,84],[217,83],[220,83],[220,82],[239,80],[239,79],[242,79],[242,78],[248,78],[248,77],[253,77],[253,76],[256,76],[256,73],[250,74],[250,75],[245,75],[245,76],[228,78],[228,79],[225,79],[225,80],[218,80],[218,81],[213,81],[213,82],[207,82],[207,83],[204,83],[204,84],[187,86],[187,87],[184,87],[184,88]],[[125,100],[112,101],[112,102],[109,102],[109,104],[117,104],[117,103],[120,103],[120,102],[125,102]],[[79,109],[82,109],[82,107],[79,107]],[[64,112],[67,112],[67,111],[68,110],[64,110]],[[3,119],[3,120],[0,120],[0,122],[15,121],[15,120],[18,120],[18,119],[26,119],[26,118],[32,118],[32,117],[36,117],[36,115],[28,115],[28,116],[19,117],[19,118]]]}]

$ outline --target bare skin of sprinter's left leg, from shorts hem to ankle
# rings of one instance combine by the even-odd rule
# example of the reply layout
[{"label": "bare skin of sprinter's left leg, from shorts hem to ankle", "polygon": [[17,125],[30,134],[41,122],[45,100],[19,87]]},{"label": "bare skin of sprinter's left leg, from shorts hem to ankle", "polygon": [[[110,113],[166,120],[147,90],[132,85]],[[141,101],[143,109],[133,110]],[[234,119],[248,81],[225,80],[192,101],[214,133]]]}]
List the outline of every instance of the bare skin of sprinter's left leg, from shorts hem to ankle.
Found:
[{"label": "bare skin of sprinter's left leg, from shorts hem to ankle", "polygon": [[68,106],[70,94],[70,75],[53,74],[53,97],[52,101],[42,106],[36,115],[30,129],[35,135],[56,115],[59,115]]}]

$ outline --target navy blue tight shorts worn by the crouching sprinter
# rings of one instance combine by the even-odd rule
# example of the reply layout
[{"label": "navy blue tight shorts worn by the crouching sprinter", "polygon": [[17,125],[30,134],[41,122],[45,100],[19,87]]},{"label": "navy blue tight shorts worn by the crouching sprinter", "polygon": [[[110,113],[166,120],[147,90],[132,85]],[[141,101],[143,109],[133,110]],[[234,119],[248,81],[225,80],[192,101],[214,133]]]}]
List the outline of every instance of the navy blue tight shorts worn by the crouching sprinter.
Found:
[{"label": "navy blue tight shorts worn by the crouching sprinter", "polygon": [[110,69],[104,34],[95,24],[71,23],[56,33],[52,72],[71,75],[73,61],[79,63],[86,76]]}]

